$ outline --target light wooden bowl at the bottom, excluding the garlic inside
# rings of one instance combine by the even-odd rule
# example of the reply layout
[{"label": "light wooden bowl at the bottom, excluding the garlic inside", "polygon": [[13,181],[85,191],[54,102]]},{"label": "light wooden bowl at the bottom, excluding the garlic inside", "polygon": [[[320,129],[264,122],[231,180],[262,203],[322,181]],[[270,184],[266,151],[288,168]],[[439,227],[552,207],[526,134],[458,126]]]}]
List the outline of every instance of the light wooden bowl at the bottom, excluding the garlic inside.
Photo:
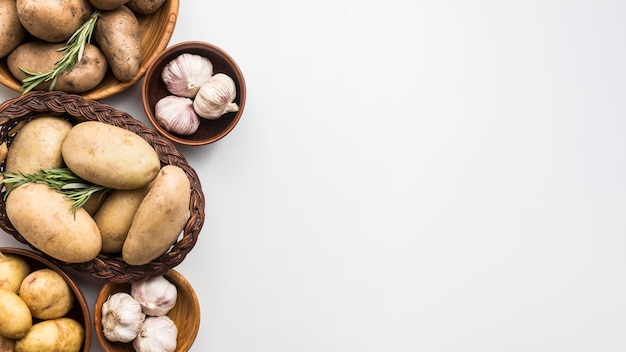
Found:
[{"label": "light wooden bowl at the bottom, excluding the garlic inside", "polygon": [[[176,352],[189,351],[200,329],[200,303],[198,302],[198,297],[187,279],[176,270],[169,270],[163,276],[173,283],[178,290],[176,305],[167,313],[167,316],[174,321],[178,329]],[[105,352],[134,351],[132,342],[111,342],[102,333],[102,304],[114,293],[130,293],[130,285],[129,283],[107,282],[96,298],[93,313],[94,327],[98,341]]]}]

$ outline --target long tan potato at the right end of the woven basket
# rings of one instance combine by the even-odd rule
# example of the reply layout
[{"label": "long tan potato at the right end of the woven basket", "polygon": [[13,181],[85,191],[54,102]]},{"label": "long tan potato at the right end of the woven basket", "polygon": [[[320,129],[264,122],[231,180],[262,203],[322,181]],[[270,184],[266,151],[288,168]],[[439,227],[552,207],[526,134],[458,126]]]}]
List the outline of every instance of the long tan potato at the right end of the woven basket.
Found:
[{"label": "long tan potato at the right end of the woven basket", "polygon": [[139,205],[122,247],[122,260],[143,265],[165,253],[189,219],[191,185],[178,166],[166,165]]}]

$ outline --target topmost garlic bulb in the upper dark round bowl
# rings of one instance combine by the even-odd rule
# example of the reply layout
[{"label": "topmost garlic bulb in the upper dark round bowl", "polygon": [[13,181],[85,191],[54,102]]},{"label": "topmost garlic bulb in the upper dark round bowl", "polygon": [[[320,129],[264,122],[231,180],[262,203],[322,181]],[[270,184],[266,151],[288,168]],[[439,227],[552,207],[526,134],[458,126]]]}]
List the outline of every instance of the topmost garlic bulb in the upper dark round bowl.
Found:
[{"label": "topmost garlic bulb in the upper dark round bowl", "polygon": [[213,63],[204,56],[184,53],[165,65],[161,79],[170,93],[193,98],[213,76]]}]

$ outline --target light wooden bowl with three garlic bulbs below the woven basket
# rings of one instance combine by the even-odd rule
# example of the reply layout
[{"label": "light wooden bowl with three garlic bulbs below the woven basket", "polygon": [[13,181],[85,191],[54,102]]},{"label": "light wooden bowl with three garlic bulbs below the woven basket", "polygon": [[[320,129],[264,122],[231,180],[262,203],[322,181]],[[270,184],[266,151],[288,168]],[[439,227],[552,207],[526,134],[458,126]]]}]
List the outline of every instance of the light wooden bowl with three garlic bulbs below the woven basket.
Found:
[{"label": "light wooden bowl with three garlic bulbs below the woven basket", "polygon": [[200,329],[200,304],[174,269],[132,283],[107,282],[96,298],[94,327],[106,352],[189,351]]}]

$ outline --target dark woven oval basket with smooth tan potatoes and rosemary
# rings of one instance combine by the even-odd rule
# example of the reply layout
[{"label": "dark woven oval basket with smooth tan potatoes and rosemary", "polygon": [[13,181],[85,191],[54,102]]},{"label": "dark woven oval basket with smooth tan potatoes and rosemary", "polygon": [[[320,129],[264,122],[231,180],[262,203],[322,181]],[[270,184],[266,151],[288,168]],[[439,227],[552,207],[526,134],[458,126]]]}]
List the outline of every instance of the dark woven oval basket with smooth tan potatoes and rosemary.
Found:
[{"label": "dark woven oval basket with smooth tan potatoes and rosemary", "polygon": [[204,223],[195,170],[169,140],[60,91],[0,104],[0,228],[46,259],[112,282],[180,264]]}]

